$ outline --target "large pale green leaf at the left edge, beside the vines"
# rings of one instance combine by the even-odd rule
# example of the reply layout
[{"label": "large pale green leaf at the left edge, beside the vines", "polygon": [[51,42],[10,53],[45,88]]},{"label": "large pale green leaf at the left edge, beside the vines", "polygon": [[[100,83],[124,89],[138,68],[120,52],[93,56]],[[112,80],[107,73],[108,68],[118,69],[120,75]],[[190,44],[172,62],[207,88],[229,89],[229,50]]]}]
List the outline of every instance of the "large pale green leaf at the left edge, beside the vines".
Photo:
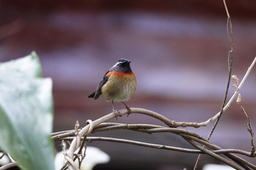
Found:
[{"label": "large pale green leaf at the left edge, beside the vines", "polygon": [[0,147],[21,169],[54,169],[52,81],[36,53],[0,64]]}]

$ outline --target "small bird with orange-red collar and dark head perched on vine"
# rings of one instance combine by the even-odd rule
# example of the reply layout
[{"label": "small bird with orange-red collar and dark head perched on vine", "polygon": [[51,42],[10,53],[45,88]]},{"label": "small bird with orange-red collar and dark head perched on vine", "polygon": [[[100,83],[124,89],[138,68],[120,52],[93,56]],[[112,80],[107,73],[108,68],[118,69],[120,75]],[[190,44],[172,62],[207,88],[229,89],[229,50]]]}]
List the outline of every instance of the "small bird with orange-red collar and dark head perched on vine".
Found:
[{"label": "small bird with orange-red collar and dark head perched on vine", "polygon": [[116,64],[108,70],[103,80],[99,82],[96,91],[88,97],[96,100],[103,94],[107,101],[112,101],[113,112],[116,112],[113,101],[121,101],[129,115],[131,109],[129,109],[124,101],[128,101],[131,98],[132,94],[135,93],[137,85],[135,74],[129,66],[130,62],[124,58],[116,61]]}]

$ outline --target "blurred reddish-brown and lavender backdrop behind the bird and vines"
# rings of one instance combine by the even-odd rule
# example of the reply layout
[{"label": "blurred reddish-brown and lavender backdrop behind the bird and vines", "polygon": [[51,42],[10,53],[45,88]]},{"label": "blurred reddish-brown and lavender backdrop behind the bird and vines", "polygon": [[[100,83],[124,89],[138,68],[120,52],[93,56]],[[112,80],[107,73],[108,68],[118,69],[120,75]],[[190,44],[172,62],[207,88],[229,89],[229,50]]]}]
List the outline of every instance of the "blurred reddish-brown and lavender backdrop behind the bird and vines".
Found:
[{"label": "blurred reddish-brown and lavender backdrop behind the bird and vines", "polygon": [[[227,1],[235,41],[233,74],[241,80],[256,55],[256,1]],[[227,84],[227,15],[222,1],[178,0],[1,0],[0,62],[35,50],[45,77],[53,79],[54,131],[86,125],[112,111],[100,97],[87,98],[118,58],[132,60],[138,80],[129,107],[151,109],[171,120],[203,122],[222,104]],[[256,128],[256,69],[241,89],[241,105]],[[230,88],[229,97],[234,88]],[[250,151],[250,135],[241,105],[222,116],[211,141],[222,148]],[[116,103],[122,109],[122,104]],[[43,121],[43,120],[42,120]],[[118,123],[160,124],[132,114]],[[188,128],[206,137],[213,123]],[[109,131],[92,134],[188,147],[173,134]],[[192,169],[197,155],[110,142],[92,142],[110,155],[95,169]],[[56,142],[60,148],[60,142]],[[255,159],[246,160],[256,163]],[[200,167],[217,163],[204,155]]]}]

